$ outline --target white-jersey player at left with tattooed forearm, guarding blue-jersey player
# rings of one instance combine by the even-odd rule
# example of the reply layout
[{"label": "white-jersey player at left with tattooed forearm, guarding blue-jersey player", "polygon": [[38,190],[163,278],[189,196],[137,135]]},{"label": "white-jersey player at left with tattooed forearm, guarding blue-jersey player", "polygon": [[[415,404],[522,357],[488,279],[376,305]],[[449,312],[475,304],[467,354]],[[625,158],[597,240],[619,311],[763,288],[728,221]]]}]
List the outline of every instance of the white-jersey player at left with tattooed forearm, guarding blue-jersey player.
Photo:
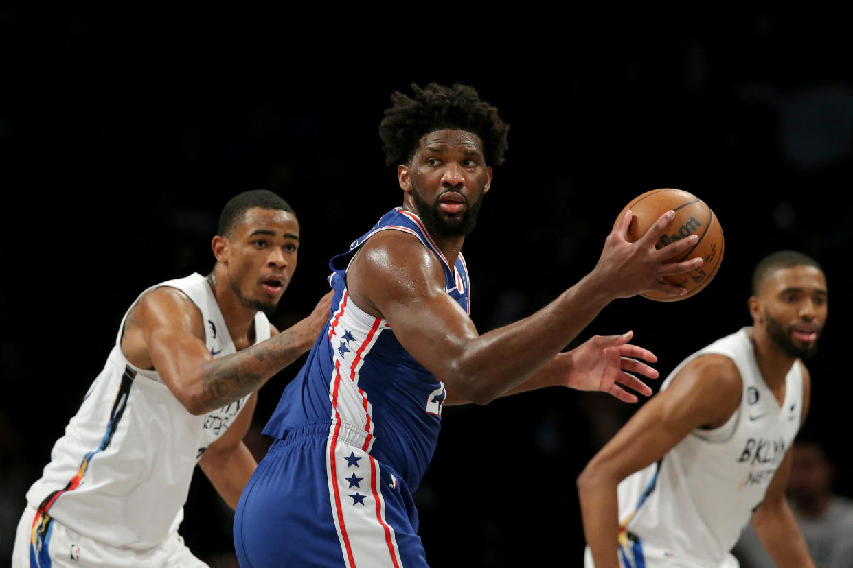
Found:
[{"label": "white-jersey player at left with tattooed forearm, guarding blue-jersey player", "polygon": [[257,466],[242,438],[255,391],[310,349],[331,295],[278,333],[299,222],[275,193],[223,208],[216,265],[145,290],[119,326],[44,474],[26,494],[12,565],[206,566],[177,528],[196,463],[234,508]]}]

